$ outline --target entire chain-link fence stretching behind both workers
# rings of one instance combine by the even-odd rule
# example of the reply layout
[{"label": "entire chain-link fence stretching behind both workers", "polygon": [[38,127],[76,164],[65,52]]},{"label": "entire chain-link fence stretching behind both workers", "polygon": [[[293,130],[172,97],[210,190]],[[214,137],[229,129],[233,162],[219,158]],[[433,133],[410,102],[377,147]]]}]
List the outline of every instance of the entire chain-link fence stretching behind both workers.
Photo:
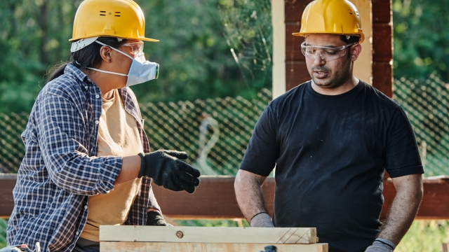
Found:
[{"label": "entire chain-link fence stretching behind both workers", "polygon": [[[271,100],[257,97],[140,104],[152,150],[186,151],[202,174],[234,175],[257,118]],[[425,82],[394,80],[394,99],[413,125],[426,176],[449,174],[449,85],[435,76]],[[27,113],[0,114],[0,172],[17,172],[25,148],[20,134]]]}]

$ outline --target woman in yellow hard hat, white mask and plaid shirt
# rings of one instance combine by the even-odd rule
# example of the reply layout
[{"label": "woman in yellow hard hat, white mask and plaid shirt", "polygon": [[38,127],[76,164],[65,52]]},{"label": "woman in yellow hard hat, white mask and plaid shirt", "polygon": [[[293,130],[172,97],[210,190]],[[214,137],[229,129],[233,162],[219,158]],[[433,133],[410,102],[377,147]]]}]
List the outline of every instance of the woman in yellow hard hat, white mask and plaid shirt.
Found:
[{"label": "woman in yellow hard hat, white mask and plaid shirt", "polygon": [[72,61],[36,99],[22,139],[8,244],[98,251],[100,225],[168,225],[151,181],[193,193],[199,171],[178,151],[149,152],[130,85],[157,78],[145,60],[145,18],[130,0],[86,0],[76,11]]}]

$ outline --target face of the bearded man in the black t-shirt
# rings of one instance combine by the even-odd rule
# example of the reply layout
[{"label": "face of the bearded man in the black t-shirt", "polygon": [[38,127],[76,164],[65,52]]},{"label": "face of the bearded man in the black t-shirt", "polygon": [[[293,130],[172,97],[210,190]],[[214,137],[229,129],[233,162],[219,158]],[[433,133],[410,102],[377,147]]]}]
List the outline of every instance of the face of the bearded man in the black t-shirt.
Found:
[{"label": "face of the bearded man in the black t-shirt", "polygon": [[[306,45],[341,47],[346,45],[338,35],[312,34],[305,39]],[[336,88],[347,82],[352,76],[351,47],[345,48],[343,57],[324,60],[316,53],[314,59],[306,57],[307,70],[314,83],[322,88]]]}]

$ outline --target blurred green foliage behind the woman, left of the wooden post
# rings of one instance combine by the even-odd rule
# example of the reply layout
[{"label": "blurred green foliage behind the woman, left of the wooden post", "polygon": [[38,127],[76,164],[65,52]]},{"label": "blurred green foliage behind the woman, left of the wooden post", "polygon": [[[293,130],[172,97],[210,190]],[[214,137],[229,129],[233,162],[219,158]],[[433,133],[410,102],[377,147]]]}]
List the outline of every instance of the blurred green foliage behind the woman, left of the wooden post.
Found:
[{"label": "blurred green foliage behind the woman, left of the wooden post", "polygon": [[[146,18],[146,35],[159,43],[145,43],[147,59],[161,64],[158,80],[133,86],[139,102],[174,102],[207,97],[255,97],[262,87],[271,87],[271,62],[236,64],[232,43],[222,18],[233,8],[222,0],[137,0]],[[46,71],[69,59],[69,38],[76,8],[81,0],[2,0],[0,1],[0,112],[30,111],[39,90],[45,85]],[[269,1],[265,11],[252,15],[256,1],[239,4],[239,22],[270,20]],[[250,10],[251,9],[251,10]],[[251,16],[252,15],[252,16]],[[270,22],[263,33],[255,34],[248,23],[239,31],[248,47],[257,47],[261,36],[270,41]],[[229,30],[229,29],[228,29]],[[250,34],[255,37],[250,39]],[[248,35],[249,34],[249,35]],[[262,34],[262,35],[261,35]],[[229,41],[228,41],[229,42]],[[234,47],[235,48],[235,47]],[[271,46],[264,46],[271,59]],[[266,48],[270,48],[266,50]],[[247,50],[235,48],[240,55]],[[242,56],[243,57],[243,56]],[[250,56],[253,57],[253,56]],[[253,59],[251,59],[253,60]],[[262,66],[262,67],[260,67]],[[260,70],[263,68],[263,71]]]}]

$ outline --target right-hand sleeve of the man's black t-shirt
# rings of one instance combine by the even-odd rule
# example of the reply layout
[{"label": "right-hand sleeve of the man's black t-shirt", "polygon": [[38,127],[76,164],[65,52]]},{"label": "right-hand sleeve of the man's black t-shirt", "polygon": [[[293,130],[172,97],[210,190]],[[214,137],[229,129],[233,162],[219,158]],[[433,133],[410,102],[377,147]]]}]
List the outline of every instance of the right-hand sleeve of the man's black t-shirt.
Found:
[{"label": "right-hand sleeve of the man's black t-shirt", "polygon": [[393,113],[387,128],[384,167],[391,178],[424,173],[415,133],[401,107]]}]

